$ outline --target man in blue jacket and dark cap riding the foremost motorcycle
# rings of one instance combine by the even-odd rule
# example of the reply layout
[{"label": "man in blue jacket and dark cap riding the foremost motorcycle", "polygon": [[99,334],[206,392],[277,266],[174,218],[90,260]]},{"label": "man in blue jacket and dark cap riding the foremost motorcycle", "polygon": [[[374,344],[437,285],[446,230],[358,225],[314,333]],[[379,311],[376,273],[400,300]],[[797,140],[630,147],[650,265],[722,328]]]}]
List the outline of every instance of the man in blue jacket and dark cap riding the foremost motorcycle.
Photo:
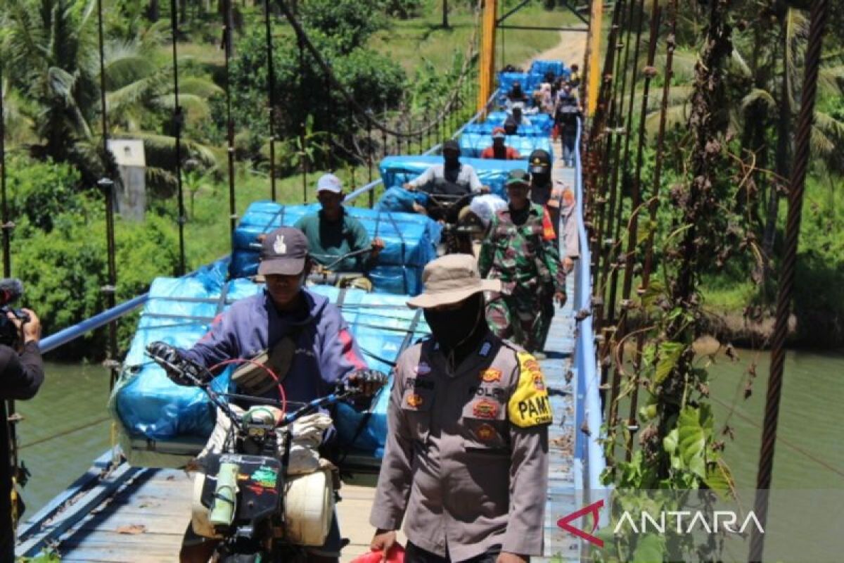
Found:
[{"label": "man in blue jacket and dark cap riding the foremost motorcycle", "polygon": [[[363,382],[359,385],[365,394],[374,392],[377,384],[366,384],[371,374],[338,307],[305,289],[310,270],[305,235],[289,227],[273,230],[262,241],[258,266],[258,274],[267,281],[266,290],[237,301],[214,319],[192,349],[179,350],[179,355],[205,367],[233,358],[260,358],[278,374],[288,401],[311,401],[327,395],[338,383],[355,380]],[[289,345],[279,344],[283,341]],[[287,352],[279,354],[279,348]],[[178,379],[176,374],[171,377]],[[276,382],[266,370],[235,372],[233,379],[241,392],[278,397]],[[215,544],[189,528],[180,559],[204,563]],[[340,547],[335,517],[326,543],[314,549],[309,560],[336,561]]]}]

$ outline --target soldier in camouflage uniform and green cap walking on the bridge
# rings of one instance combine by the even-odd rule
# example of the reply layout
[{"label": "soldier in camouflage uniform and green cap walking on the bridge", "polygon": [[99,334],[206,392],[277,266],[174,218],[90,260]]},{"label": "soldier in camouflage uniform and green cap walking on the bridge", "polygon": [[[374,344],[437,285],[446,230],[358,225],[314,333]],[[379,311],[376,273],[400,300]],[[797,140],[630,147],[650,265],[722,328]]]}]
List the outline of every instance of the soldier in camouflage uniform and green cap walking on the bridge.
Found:
[{"label": "soldier in camouflage uniform and green cap walking on the bridge", "polygon": [[481,276],[501,280],[486,319],[500,338],[538,352],[551,322],[543,309],[565,303],[565,271],[548,212],[527,198],[530,175],[511,171],[506,187],[510,203],[492,219],[479,257]]}]

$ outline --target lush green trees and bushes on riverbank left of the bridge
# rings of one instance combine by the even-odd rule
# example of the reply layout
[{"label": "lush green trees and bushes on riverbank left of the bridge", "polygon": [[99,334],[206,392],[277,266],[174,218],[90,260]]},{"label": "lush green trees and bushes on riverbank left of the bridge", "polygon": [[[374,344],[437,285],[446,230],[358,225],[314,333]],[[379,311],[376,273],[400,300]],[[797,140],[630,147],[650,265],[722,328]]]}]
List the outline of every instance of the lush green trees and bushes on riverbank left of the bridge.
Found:
[{"label": "lush green trees and bushes on riverbank left of the bridge", "polygon": [[[270,198],[271,171],[281,202],[313,201],[315,175],[327,170],[335,171],[347,189],[360,187],[377,176],[381,154],[421,152],[475,110],[475,2],[452,2],[448,27],[442,26],[442,4],[435,0],[296,4],[309,40],[351,100],[327,81],[309,51],[300,56],[295,32],[270,3],[276,139],[271,165],[263,3],[233,5],[229,83],[239,215],[252,201]],[[185,0],[177,5],[181,181],[190,271],[230,250],[225,51],[220,48],[225,3]],[[96,2],[8,0],[2,7],[13,275],[26,286],[24,305],[39,312],[45,333],[55,333],[106,303],[101,291],[107,279],[106,215],[97,181],[116,177],[116,171],[111,154],[102,149]],[[169,4],[106,0],[103,13],[107,133],[142,140],[147,166],[143,221],[116,219],[120,302],[143,293],[154,277],[178,272],[176,86]],[[571,19],[571,14],[536,5],[518,14],[517,23],[540,14],[558,24]],[[520,34],[511,37],[508,57],[527,57],[556,41],[556,34]],[[435,122],[452,97],[450,111],[430,133],[400,141],[377,129],[370,135],[357,109],[406,132]],[[131,318],[120,323],[123,347],[133,325]],[[105,349],[104,342],[100,331],[58,354],[91,355],[91,350]]]}]

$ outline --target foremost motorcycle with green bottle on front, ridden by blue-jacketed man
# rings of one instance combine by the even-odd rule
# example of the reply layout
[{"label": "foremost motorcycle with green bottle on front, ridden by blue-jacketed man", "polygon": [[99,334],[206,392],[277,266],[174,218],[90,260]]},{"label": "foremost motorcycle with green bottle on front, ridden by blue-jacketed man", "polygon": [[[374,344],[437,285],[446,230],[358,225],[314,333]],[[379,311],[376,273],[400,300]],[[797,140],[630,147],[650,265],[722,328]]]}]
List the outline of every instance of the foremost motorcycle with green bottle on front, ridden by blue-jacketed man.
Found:
[{"label": "foremost motorcycle with green bottle on front, ridden by blue-jacketed man", "polygon": [[[225,429],[225,439],[219,451],[207,448],[197,461],[201,473],[194,483],[193,528],[219,539],[213,560],[306,561],[306,547],[322,545],[327,537],[338,486],[330,465],[308,474],[288,474],[292,426],[308,414],[359,396],[360,389],[341,387],[287,413],[283,391],[281,401],[214,392],[211,374],[203,366],[152,346],[147,354],[182,382],[202,388],[230,423],[228,428],[218,425]],[[173,360],[176,357],[179,360]],[[387,377],[378,375],[382,385]]]}]

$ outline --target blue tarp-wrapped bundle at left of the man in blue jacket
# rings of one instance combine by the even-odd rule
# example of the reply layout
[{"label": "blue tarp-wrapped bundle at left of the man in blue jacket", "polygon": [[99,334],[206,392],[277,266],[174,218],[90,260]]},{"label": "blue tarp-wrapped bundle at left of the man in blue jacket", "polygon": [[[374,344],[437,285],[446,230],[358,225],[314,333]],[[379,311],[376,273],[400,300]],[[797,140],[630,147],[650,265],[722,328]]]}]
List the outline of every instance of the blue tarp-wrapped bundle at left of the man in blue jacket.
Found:
[{"label": "blue tarp-wrapped bundle at left of the man in blue jacket", "polygon": [[[214,430],[214,406],[203,391],[180,387],[144,355],[147,344],[163,340],[190,348],[214,317],[235,300],[261,287],[246,279],[232,281],[220,299],[228,263],[218,262],[185,278],[158,278],[149,288],[138,330],[109,400],[121,427],[121,447],[130,463],[179,467],[199,452]],[[228,387],[228,372],[215,380]]]}]

